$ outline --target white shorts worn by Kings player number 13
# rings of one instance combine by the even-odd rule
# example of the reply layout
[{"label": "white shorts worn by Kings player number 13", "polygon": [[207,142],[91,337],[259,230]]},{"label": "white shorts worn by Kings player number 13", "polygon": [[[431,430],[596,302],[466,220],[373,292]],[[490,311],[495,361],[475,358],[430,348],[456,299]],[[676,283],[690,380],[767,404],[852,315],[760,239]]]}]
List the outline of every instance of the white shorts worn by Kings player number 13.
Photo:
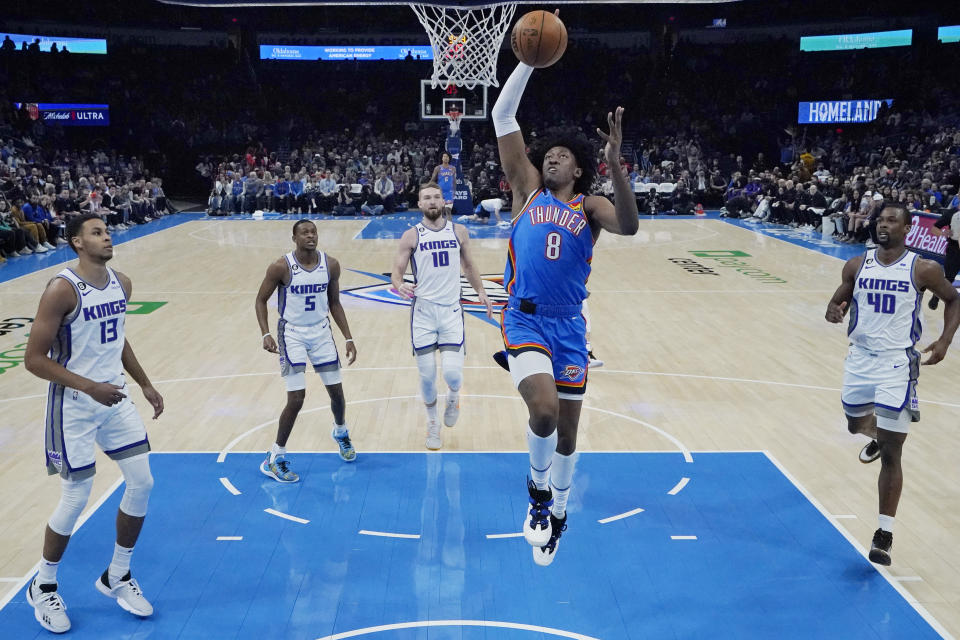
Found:
[{"label": "white shorts worn by Kings player number 13", "polygon": [[96,447],[113,460],[150,451],[147,430],[130,399],[130,387],[121,375],[126,397],[108,407],[76,389],[51,384],[47,391],[45,448],[47,473],[83,480],[96,473]]}]

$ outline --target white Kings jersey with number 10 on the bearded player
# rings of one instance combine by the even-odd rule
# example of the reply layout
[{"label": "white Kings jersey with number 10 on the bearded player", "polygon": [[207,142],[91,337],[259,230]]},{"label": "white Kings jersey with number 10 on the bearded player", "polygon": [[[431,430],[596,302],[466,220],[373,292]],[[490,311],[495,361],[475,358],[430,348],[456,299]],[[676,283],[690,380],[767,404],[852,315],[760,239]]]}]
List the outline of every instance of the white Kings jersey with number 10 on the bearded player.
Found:
[{"label": "white Kings jersey with number 10 on the bearded player", "polygon": [[423,223],[416,229],[417,246],[413,250],[411,267],[417,298],[436,304],[459,303],[460,241],[453,230],[453,222],[448,220],[439,231]]}]

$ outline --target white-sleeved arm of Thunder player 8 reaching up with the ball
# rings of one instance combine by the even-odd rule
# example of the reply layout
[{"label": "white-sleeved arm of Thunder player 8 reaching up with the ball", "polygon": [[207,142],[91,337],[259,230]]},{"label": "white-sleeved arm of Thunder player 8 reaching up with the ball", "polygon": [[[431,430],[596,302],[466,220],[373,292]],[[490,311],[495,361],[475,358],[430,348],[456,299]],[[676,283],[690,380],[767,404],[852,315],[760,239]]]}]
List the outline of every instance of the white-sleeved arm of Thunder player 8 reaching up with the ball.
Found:
[{"label": "white-sleeved arm of Thunder player 8 reaching up with the ball", "polygon": [[500,149],[500,164],[513,187],[514,211],[522,207],[527,197],[540,188],[540,172],[527,158],[527,145],[517,122],[517,107],[527,86],[533,67],[519,63],[500,89],[500,95],[490,111],[493,129]]}]

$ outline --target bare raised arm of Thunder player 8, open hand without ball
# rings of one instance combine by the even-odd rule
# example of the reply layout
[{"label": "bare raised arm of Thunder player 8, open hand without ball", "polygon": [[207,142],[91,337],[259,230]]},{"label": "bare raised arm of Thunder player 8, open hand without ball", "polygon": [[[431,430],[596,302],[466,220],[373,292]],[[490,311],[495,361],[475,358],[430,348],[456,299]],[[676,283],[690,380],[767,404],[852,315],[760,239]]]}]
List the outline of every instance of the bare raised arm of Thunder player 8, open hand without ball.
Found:
[{"label": "bare raised arm of Thunder player 8, open hand without ball", "polygon": [[607,114],[607,124],[610,127],[610,133],[604,133],[599,127],[597,133],[607,142],[603,148],[603,154],[607,161],[607,173],[613,182],[613,200],[616,204],[611,205],[609,200],[600,196],[589,196],[584,205],[590,214],[594,238],[597,236],[598,228],[622,236],[632,236],[640,228],[640,219],[633,187],[620,171],[623,107],[617,107],[615,111]]}]

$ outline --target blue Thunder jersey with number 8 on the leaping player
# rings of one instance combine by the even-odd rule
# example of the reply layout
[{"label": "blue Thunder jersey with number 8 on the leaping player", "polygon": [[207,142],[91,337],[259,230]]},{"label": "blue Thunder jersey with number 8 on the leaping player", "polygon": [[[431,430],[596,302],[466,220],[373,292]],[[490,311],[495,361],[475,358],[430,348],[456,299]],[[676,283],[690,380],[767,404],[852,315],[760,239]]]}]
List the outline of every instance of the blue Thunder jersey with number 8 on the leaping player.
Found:
[{"label": "blue Thunder jersey with number 8 on the leaping player", "polygon": [[583,194],[561,202],[546,188],[533,193],[510,234],[504,288],[543,305],[576,305],[587,297],[593,233]]}]

